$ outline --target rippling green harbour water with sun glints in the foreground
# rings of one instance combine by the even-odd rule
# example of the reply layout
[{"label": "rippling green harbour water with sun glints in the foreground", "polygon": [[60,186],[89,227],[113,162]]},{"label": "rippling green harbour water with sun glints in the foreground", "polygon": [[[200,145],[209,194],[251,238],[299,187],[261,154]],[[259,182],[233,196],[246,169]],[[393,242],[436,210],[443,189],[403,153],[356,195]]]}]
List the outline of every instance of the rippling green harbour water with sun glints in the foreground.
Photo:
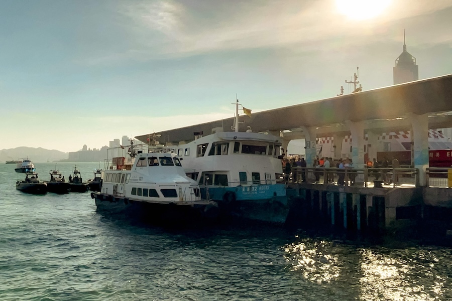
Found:
[{"label": "rippling green harbour water with sun glints in the foreground", "polygon": [[[35,164],[42,180],[55,164]],[[450,300],[452,252],[253,225],[163,229],[0,164],[0,300]],[[74,164],[59,163],[65,178]],[[98,163],[77,164],[85,180]],[[395,245],[395,246],[394,246]]]}]

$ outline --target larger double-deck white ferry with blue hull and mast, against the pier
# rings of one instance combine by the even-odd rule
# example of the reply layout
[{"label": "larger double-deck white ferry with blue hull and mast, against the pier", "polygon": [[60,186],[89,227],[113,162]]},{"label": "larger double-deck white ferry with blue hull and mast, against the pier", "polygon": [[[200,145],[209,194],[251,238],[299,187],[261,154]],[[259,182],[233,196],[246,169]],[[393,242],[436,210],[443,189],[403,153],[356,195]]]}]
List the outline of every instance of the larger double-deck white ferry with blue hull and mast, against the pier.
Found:
[{"label": "larger double-deck white ferry with blue hull and mast, against the pier", "polygon": [[[239,132],[237,101],[234,131],[216,132],[177,146],[187,176],[196,180],[203,198],[221,211],[245,219],[284,223],[289,213],[282,175],[280,137]],[[279,182],[279,181],[278,181]]]}]

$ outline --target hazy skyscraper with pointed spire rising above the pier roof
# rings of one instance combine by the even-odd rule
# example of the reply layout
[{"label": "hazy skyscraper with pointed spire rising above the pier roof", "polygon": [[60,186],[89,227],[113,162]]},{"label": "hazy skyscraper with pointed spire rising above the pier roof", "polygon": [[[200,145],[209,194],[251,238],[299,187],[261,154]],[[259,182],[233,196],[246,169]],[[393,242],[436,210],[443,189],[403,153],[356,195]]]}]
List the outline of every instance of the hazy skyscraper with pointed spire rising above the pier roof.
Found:
[{"label": "hazy skyscraper with pointed spire rising above the pier roof", "polygon": [[403,30],[403,52],[396,59],[394,69],[394,85],[419,79],[419,68],[416,58],[406,51],[405,30]]}]

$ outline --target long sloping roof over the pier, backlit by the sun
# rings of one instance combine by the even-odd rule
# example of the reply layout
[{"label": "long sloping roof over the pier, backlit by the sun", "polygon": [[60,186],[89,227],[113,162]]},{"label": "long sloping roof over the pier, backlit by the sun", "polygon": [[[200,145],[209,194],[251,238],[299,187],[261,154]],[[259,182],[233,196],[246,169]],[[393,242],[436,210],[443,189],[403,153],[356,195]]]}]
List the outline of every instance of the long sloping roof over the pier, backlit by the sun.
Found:
[{"label": "long sloping roof over the pier, backlit by the sun", "polygon": [[[349,132],[346,121],[365,121],[365,129],[410,128],[408,113],[429,114],[430,128],[452,127],[452,74],[384,88],[336,96],[307,103],[253,113],[241,117],[240,130],[288,131],[303,138],[301,127],[317,128],[317,136]],[[216,120],[157,132],[161,142],[191,141],[193,132],[210,134],[212,128],[230,131],[234,118]],[[284,134],[286,136],[286,133]],[[136,136],[146,142],[148,134]]]}]

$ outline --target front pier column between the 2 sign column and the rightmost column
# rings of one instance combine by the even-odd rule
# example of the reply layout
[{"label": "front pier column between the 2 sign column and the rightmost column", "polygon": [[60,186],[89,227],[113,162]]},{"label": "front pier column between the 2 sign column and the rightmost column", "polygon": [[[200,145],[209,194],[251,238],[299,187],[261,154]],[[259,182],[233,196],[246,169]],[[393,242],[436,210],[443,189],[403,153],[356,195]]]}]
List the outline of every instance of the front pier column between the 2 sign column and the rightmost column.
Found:
[{"label": "front pier column between the 2 sign column and the rightmost column", "polygon": [[[354,169],[364,169],[364,122],[347,121],[352,133],[352,161]],[[364,184],[364,174],[359,173],[355,178],[355,184]]]}]

